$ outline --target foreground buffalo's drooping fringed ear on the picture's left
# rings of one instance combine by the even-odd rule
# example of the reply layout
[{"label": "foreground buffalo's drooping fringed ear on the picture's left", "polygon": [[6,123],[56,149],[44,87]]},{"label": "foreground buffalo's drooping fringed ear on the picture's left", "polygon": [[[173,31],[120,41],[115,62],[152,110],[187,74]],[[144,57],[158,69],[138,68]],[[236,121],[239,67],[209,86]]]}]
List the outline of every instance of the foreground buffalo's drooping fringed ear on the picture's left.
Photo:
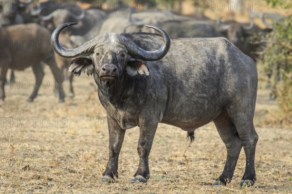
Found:
[{"label": "foreground buffalo's drooping fringed ear on the picture's left", "polygon": [[69,72],[73,72],[74,75],[79,76],[81,71],[85,72],[87,69],[87,75],[92,75],[94,67],[91,59],[86,57],[77,57],[69,64]]}]

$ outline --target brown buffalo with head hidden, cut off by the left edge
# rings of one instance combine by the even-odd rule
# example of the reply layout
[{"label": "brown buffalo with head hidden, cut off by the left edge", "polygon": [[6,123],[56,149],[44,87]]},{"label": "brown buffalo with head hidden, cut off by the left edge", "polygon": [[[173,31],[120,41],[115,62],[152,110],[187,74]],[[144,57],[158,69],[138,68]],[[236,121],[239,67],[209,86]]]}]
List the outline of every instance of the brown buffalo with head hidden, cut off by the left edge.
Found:
[{"label": "brown buffalo with head hidden, cut off by the left edge", "polygon": [[56,79],[56,88],[59,92],[59,101],[64,101],[64,92],[61,88],[62,74],[56,66],[54,52],[50,45],[51,33],[38,24],[18,24],[0,28],[0,86],[1,100],[4,100],[4,85],[8,69],[24,70],[33,68],[36,76],[34,91],[27,101],[32,102],[37,96],[44,76],[40,62],[49,65]]}]

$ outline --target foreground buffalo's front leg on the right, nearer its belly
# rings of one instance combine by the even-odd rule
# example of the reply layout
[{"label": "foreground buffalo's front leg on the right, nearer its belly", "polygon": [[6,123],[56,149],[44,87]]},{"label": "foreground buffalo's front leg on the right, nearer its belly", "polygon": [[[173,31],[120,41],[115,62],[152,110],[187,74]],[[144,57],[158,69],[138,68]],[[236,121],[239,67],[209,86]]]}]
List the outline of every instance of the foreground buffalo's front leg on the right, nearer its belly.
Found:
[{"label": "foreground buffalo's front leg on the right, nearer its belly", "polygon": [[131,183],[136,181],[147,182],[147,180],[150,178],[148,157],[152,147],[158,121],[155,122],[154,120],[146,121],[145,119],[140,119],[139,125],[140,136],[137,150],[140,157],[140,163],[138,170],[130,181]]}]

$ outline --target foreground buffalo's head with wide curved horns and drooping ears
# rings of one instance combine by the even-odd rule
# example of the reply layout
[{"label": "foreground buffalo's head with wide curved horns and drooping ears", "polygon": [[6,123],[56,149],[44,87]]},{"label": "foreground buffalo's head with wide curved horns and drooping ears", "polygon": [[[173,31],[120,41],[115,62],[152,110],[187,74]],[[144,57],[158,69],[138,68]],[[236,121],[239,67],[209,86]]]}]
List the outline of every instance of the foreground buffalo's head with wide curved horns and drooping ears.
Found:
[{"label": "foreground buffalo's head with wide curved horns and drooping ears", "polygon": [[130,41],[126,36],[116,33],[98,35],[76,49],[62,47],[58,36],[62,29],[77,23],[65,23],[57,27],[52,34],[53,49],[60,56],[73,58],[69,71],[80,75],[81,71],[94,76],[96,84],[109,86],[129,76],[149,75],[146,61],[156,61],[164,57],[170,47],[170,38],[159,27],[146,26],[158,31],[164,39],[164,44],[156,51],[145,51]]}]

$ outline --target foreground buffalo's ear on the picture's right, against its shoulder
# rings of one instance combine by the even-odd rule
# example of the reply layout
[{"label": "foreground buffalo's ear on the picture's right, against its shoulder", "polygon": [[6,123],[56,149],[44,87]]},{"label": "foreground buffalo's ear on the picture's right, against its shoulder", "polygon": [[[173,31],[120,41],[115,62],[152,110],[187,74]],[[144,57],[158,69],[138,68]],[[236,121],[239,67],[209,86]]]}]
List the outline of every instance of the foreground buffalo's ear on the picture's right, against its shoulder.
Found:
[{"label": "foreground buffalo's ear on the picture's right, against its shoulder", "polygon": [[131,76],[149,75],[149,70],[146,66],[146,62],[139,59],[130,58],[128,60],[126,70]]}]

